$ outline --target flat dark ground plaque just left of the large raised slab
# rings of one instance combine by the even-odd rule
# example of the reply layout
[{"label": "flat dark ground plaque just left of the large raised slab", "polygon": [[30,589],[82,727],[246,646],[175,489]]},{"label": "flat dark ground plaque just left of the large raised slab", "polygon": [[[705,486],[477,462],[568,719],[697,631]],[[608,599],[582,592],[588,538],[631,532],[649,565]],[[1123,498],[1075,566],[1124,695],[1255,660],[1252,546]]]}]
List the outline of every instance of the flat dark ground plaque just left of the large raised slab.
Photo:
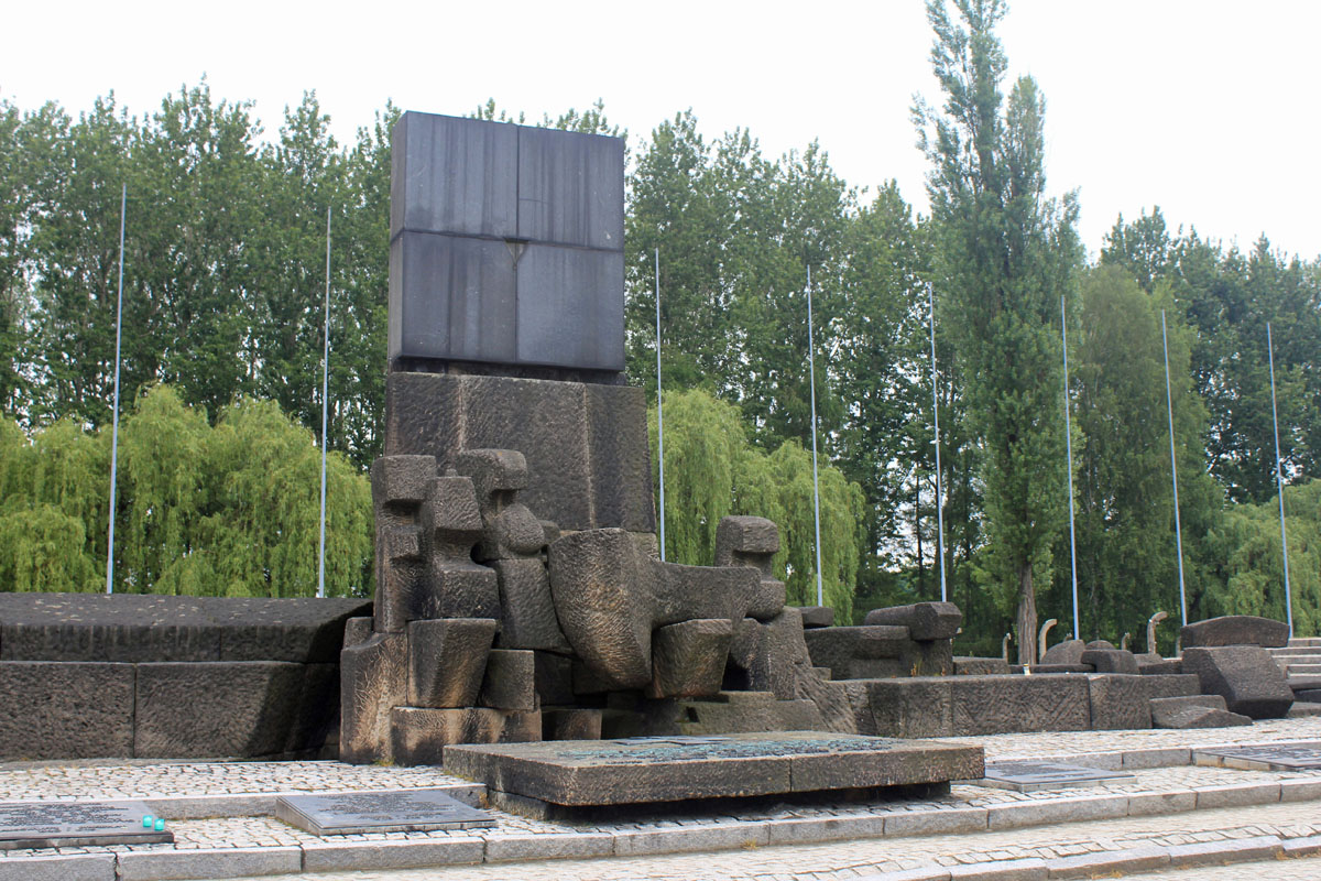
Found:
[{"label": "flat dark ground plaque just left of the large raised slab", "polygon": [[429,832],[495,826],[489,814],[456,800],[445,790],[281,795],[275,800],[275,815],[313,835]]}]

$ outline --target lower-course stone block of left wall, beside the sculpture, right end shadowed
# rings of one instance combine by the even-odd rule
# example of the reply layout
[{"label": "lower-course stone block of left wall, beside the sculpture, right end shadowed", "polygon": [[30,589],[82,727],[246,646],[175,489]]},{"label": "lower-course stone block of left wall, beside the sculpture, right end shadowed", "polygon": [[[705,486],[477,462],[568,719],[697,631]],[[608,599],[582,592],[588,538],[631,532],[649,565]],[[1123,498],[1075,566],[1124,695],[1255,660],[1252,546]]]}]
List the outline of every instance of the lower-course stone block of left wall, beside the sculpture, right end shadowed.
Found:
[{"label": "lower-course stone block of left wall, beside the sculpture, right end shadowed", "polygon": [[306,687],[306,666],[287,662],[139,664],[133,754],[213,758],[291,752],[292,730],[320,729],[324,736],[326,729],[326,721],[300,724],[300,711],[326,719],[334,712],[329,701],[305,707]]}]

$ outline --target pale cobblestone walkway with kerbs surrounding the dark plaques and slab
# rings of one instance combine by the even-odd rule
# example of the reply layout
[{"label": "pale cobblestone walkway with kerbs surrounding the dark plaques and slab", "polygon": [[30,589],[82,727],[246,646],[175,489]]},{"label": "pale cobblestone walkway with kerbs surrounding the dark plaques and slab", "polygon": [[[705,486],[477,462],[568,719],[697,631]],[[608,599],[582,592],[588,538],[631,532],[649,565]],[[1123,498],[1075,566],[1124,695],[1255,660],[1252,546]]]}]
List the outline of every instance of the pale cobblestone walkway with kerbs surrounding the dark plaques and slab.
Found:
[{"label": "pale cobblestone walkway with kerbs surrounding the dark plaques and slab", "polygon": [[740,811],[727,806],[704,815],[594,826],[493,811],[498,824],[491,829],[318,839],[268,816],[276,793],[450,786],[460,796],[477,800],[481,787],[431,769],[337,762],[11,763],[0,765],[0,800],[139,798],[172,820],[176,843],[0,852],[0,881],[1007,881],[1094,873],[1118,877],[1188,861],[1276,856],[1299,857],[1321,877],[1321,860],[1303,856],[1321,851],[1321,771],[1189,765],[1192,748],[1199,745],[1318,742],[1321,719],[1193,732],[968,740],[982,742],[989,759],[1067,757],[1127,769],[1132,778],[1026,794],[956,783],[947,798],[921,802]]}]

